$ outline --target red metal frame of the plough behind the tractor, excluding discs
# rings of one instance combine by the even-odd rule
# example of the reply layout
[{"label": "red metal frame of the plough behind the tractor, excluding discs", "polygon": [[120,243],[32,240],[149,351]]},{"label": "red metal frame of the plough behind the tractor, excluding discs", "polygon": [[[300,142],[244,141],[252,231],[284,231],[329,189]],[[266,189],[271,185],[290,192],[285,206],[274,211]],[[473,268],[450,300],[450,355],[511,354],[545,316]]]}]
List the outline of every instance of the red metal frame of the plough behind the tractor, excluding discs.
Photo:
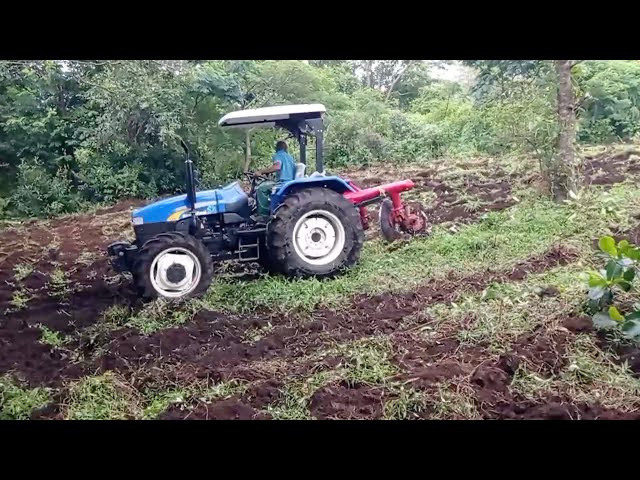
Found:
[{"label": "red metal frame of the plough behind the tractor, excluding discs", "polygon": [[402,180],[400,182],[386,183],[377,187],[362,189],[355,183],[348,181],[354,191],[345,192],[344,196],[355,205],[360,206],[360,218],[362,227],[366,230],[369,228],[369,212],[367,205],[382,201],[385,198],[391,199],[393,203],[392,221],[394,224],[404,226],[406,229],[418,231],[422,228],[422,219],[419,215],[412,213],[410,208],[402,202],[400,193],[411,190],[415,187],[415,183],[411,180]]}]

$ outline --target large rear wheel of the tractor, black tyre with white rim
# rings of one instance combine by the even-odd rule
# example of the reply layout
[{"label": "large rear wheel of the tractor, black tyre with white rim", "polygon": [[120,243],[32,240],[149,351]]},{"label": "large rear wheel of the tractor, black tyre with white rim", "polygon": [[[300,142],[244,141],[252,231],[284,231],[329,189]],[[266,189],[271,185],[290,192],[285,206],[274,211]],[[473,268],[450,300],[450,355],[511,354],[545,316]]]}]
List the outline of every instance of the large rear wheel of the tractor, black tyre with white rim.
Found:
[{"label": "large rear wheel of the tractor, black tyre with white rim", "polygon": [[289,277],[332,277],[360,258],[360,214],[339,193],[309,188],[289,195],[267,227],[272,265]]}]

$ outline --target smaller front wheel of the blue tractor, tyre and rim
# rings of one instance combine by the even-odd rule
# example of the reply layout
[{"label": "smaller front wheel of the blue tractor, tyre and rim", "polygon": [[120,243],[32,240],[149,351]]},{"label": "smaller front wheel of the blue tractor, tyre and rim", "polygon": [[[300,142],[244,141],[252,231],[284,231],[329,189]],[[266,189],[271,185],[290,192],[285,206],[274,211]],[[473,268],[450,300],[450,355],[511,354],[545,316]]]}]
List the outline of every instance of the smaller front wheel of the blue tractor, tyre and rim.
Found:
[{"label": "smaller front wheel of the blue tractor, tyre and rim", "polygon": [[193,236],[162,233],[142,246],[132,273],[144,299],[178,300],[207,291],[213,278],[213,261],[204,244]]}]

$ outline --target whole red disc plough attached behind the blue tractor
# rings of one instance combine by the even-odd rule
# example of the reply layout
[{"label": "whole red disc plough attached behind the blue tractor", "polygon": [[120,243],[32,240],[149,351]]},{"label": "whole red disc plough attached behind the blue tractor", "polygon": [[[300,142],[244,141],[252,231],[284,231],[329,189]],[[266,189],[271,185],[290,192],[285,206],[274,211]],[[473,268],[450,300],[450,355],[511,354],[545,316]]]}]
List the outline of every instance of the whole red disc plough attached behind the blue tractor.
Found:
[{"label": "whole red disc plough attached behind the blue tractor", "polygon": [[347,181],[354,189],[345,192],[344,196],[360,209],[360,218],[364,229],[369,228],[369,212],[367,206],[381,202],[380,230],[382,236],[393,241],[402,236],[427,233],[428,221],[424,210],[419,205],[409,205],[402,201],[400,194],[415,187],[411,180],[387,183],[377,187],[360,188],[351,180]]}]

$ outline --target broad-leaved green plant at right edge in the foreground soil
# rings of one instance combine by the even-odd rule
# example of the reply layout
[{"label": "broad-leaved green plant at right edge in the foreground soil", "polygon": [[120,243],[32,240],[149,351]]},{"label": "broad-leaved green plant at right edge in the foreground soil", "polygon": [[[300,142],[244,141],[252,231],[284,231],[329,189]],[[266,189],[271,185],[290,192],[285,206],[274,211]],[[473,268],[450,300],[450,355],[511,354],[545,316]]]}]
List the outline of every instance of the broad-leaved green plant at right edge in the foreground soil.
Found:
[{"label": "broad-leaved green plant at right edge in the foreground soil", "polygon": [[[614,305],[616,297],[634,289],[639,271],[640,248],[621,240],[616,244],[612,237],[602,237],[598,242],[601,256],[606,260],[605,268],[589,272],[589,297],[587,309],[593,314],[593,323],[598,328],[618,329],[625,337],[640,338],[640,302],[624,308]],[[627,302],[628,303],[628,302]],[[620,309],[627,311],[620,313]]]}]

